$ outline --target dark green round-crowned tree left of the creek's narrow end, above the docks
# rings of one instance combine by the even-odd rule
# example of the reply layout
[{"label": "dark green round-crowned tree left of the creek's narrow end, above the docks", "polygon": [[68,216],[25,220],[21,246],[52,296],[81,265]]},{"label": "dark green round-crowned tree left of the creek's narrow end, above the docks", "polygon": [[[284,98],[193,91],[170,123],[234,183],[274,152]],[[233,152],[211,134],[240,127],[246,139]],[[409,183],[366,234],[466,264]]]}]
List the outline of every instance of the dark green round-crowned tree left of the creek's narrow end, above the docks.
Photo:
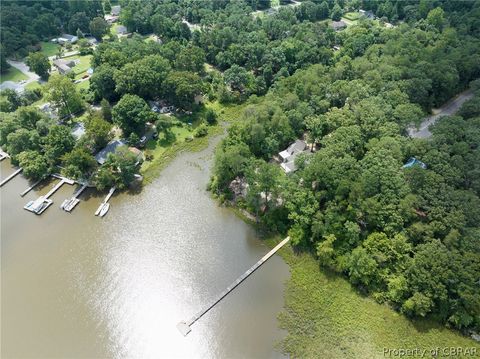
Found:
[{"label": "dark green round-crowned tree left of the creek's narrow end, above the docks", "polygon": [[127,137],[132,132],[141,134],[145,124],[153,118],[153,113],[145,100],[136,95],[127,94],[113,107],[112,118]]}]

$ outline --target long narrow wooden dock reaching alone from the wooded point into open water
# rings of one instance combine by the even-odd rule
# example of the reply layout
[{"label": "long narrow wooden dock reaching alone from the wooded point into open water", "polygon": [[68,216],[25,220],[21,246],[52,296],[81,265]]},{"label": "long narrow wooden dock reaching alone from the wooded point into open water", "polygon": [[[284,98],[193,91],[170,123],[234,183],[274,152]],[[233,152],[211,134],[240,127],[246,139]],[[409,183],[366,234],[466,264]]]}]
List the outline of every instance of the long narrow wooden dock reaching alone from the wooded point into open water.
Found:
[{"label": "long narrow wooden dock reaching alone from the wooded point into open water", "polygon": [[195,323],[197,320],[199,320],[201,317],[203,317],[210,309],[212,309],[215,305],[217,305],[223,298],[225,298],[232,290],[234,290],[240,283],[242,283],[247,277],[255,272],[255,270],[258,269],[263,263],[265,263],[271,256],[273,256],[280,248],[282,248],[288,241],[290,240],[290,237],[285,238],[283,241],[281,241],[279,244],[275,246],[270,252],[265,254],[262,259],[260,259],[257,263],[255,263],[249,270],[247,270],[245,273],[243,273],[240,277],[238,277],[232,284],[230,284],[227,289],[225,289],[222,293],[220,293],[210,304],[208,304],[204,309],[199,311],[197,314],[195,314],[193,317],[191,317],[187,321],[181,321],[180,323],[177,324],[177,329],[180,331],[180,333],[183,334],[183,336],[187,336],[188,333],[192,331],[192,326],[193,323]]}]

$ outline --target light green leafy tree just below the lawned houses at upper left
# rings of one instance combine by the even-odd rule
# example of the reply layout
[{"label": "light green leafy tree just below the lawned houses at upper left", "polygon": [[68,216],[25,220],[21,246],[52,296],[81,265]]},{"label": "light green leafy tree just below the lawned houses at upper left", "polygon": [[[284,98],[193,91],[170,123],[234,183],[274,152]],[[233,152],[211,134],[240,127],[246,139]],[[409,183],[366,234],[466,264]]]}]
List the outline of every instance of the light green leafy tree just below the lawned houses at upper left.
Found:
[{"label": "light green leafy tree just below the lawned houses at upper left", "polygon": [[61,75],[50,76],[45,85],[45,97],[59,111],[59,115],[68,116],[83,109],[83,101],[72,81]]}]

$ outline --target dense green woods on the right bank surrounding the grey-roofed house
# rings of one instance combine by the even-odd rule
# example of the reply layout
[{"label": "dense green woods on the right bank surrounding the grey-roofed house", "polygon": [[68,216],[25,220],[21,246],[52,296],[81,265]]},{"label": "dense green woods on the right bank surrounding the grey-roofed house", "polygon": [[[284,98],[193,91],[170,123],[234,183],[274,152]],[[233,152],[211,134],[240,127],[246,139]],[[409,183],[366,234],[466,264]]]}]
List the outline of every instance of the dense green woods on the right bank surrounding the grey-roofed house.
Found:
[{"label": "dense green woods on the right bank surrounding the grey-roofed house", "polygon": [[[393,29],[348,28],[331,63],[251,97],[217,151],[211,189],[228,201],[243,179],[236,205],[322,267],[407,316],[478,330],[480,8],[462,4],[452,17],[436,7]],[[470,84],[477,95],[430,139],[406,136]],[[285,175],[272,157],[298,138],[316,151]],[[411,157],[427,168],[402,168]]]}]

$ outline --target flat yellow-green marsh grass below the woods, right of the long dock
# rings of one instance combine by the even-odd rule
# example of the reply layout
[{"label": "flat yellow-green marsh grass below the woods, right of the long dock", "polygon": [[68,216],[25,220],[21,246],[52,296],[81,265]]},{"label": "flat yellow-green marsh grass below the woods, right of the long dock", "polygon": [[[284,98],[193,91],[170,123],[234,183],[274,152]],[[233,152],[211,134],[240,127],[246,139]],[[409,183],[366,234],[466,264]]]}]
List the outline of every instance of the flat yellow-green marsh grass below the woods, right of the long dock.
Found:
[{"label": "flat yellow-green marsh grass below the woods, right of the long dock", "polygon": [[419,348],[430,358],[437,347],[476,347],[480,354],[480,344],[469,338],[429,320],[410,321],[360,295],[343,277],[321,270],[310,254],[294,254],[290,246],[280,254],[291,278],[279,315],[288,334],[279,347],[292,357],[371,359],[388,357],[383,348]]}]

